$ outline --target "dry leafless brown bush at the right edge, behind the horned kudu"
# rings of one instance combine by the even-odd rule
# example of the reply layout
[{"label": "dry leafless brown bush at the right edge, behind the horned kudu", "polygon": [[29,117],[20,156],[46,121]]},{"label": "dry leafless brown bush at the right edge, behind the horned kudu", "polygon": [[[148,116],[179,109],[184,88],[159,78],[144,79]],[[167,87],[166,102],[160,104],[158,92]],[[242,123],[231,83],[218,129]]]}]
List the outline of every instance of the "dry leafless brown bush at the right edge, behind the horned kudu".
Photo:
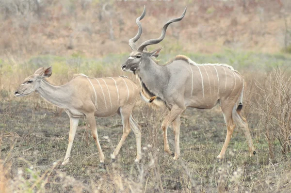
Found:
[{"label": "dry leafless brown bush at the right edge, behind the horned kudu", "polygon": [[[275,144],[286,155],[291,151],[291,77],[290,69],[273,69],[262,80],[254,80],[252,106],[259,117],[269,145],[269,156],[275,161]],[[277,140],[277,141],[276,141]]]}]

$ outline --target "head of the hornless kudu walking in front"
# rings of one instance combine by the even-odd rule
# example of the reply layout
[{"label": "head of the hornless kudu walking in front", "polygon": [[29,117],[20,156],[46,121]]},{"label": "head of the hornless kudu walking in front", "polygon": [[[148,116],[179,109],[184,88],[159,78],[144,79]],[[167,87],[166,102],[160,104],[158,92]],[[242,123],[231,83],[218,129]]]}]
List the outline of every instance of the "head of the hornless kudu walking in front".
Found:
[{"label": "head of the hornless kudu walking in front", "polygon": [[24,79],[24,82],[20,87],[15,91],[15,96],[27,96],[32,94],[33,91],[36,91],[40,86],[40,81],[44,78],[49,78],[52,73],[52,67],[48,68],[40,67],[38,68],[33,75]]}]

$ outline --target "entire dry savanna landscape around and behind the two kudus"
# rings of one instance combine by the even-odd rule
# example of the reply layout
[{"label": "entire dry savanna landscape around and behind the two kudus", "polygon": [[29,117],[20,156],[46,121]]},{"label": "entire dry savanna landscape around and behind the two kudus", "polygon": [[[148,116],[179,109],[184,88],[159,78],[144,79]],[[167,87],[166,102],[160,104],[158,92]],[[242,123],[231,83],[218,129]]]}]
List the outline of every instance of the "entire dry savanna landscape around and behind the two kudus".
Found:
[{"label": "entire dry savanna landscape around and behind the two kudus", "polygon": [[[243,131],[236,128],[226,159],[216,160],[226,125],[215,107],[182,114],[181,157],[173,161],[163,152],[161,124],[167,111],[138,101],[133,114],[142,129],[143,159],[134,163],[131,132],[111,163],[110,154],[122,135],[121,120],[118,115],[96,118],[105,167],[99,167],[85,120],[80,121],[69,163],[61,166],[68,116],[37,94],[16,98],[13,91],[38,67],[49,65],[49,80],[55,85],[75,73],[136,80],[120,65],[128,58],[127,42],[144,4],[112,0],[104,10],[106,1],[99,0],[37,1],[42,2],[38,6],[25,2],[36,1],[1,2],[0,192],[291,192],[291,17],[284,12],[290,10],[288,0],[143,2],[148,12],[142,23],[148,27],[142,41],[159,36],[155,25],[162,27],[188,6],[189,17],[169,28],[162,42],[160,64],[184,54],[196,63],[230,64],[245,77],[243,114],[257,155],[249,157]],[[160,17],[162,8],[166,11]],[[172,128],[168,136],[174,150]]]}]

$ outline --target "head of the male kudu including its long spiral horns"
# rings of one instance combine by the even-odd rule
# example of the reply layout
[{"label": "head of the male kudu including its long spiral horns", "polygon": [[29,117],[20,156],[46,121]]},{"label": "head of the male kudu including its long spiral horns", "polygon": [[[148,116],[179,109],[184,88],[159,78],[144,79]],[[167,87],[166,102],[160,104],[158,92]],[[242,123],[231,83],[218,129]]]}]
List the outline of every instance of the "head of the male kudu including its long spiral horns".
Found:
[{"label": "head of the male kudu including its long spiral horns", "polygon": [[132,49],[132,52],[130,53],[129,58],[125,62],[125,64],[121,65],[121,69],[123,71],[130,71],[130,72],[135,73],[135,71],[143,68],[146,65],[146,62],[149,60],[150,57],[152,57],[152,56],[153,57],[158,57],[160,52],[161,52],[161,50],[162,50],[162,48],[154,49],[152,51],[147,51],[146,47],[148,45],[153,45],[153,44],[160,43],[164,39],[164,37],[166,35],[166,31],[167,31],[168,26],[173,22],[177,22],[177,21],[182,20],[183,17],[185,16],[185,14],[186,14],[186,10],[187,10],[187,7],[185,8],[185,10],[184,10],[184,12],[183,12],[183,14],[181,16],[179,16],[179,17],[177,17],[175,19],[169,20],[163,26],[162,34],[158,39],[147,40],[144,43],[142,43],[139,48],[136,48],[134,42],[136,42],[139,39],[139,37],[141,36],[142,31],[143,31],[141,23],[140,23],[140,20],[141,20],[140,18],[143,18],[146,15],[145,9],[144,9],[144,12],[143,12],[142,16],[140,16],[140,17],[138,17],[136,19],[136,24],[138,25],[139,31],[138,31],[137,35],[134,38],[129,40],[129,46]]}]

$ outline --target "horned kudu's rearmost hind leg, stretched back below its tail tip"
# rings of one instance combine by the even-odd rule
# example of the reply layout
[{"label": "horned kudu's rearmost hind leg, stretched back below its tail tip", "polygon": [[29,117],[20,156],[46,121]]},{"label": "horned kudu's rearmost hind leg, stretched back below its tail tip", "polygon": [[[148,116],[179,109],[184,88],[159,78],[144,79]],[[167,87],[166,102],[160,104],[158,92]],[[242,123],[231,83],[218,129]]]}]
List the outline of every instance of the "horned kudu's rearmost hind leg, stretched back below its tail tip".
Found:
[{"label": "horned kudu's rearmost hind leg, stretched back below its tail tip", "polygon": [[244,129],[244,135],[245,135],[246,142],[247,142],[247,145],[248,145],[248,148],[249,148],[250,156],[255,155],[256,151],[255,151],[255,147],[253,145],[253,140],[251,138],[250,130],[248,128],[248,124],[247,124],[246,119],[240,114],[240,112],[237,112],[236,110],[233,111],[232,117],[233,117],[234,123],[238,127]]}]

